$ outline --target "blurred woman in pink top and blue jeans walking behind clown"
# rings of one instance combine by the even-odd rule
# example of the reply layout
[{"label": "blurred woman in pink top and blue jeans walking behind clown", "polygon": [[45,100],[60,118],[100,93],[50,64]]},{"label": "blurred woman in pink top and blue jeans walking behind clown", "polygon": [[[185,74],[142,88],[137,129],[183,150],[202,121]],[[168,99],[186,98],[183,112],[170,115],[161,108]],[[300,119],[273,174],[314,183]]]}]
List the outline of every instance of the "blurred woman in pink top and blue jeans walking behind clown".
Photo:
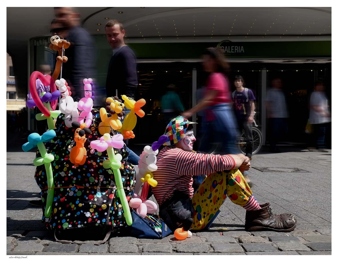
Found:
[{"label": "blurred woman in pink top and blue jeans walking behind clown", "polygon": [[237,124],[231,108],[230,85],[225,76],[229,65],[221,49],[210,47],[203,53],[203,68],[209,73],[204,99],[182,115],[188,118],[204,110],[203,133],[213,135],[203,135],[200,151],[210,153],[211,143],[216,142],[217,154],[236,154]]}]

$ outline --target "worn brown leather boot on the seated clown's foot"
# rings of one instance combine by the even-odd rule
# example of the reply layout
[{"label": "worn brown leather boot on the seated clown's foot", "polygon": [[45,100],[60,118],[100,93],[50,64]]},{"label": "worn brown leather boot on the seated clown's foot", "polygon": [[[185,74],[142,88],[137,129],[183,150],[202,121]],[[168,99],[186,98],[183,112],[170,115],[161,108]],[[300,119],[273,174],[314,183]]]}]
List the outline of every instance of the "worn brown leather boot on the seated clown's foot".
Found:
[{"label": "worn brown leather boot on the seated clown's foot", "polygon": [[261,209],[246,211],[246,231],[278,231],[290,232],[296,227],[296,218],[292,214],[276,215],[272,213],[270,203],[260,205]]}]

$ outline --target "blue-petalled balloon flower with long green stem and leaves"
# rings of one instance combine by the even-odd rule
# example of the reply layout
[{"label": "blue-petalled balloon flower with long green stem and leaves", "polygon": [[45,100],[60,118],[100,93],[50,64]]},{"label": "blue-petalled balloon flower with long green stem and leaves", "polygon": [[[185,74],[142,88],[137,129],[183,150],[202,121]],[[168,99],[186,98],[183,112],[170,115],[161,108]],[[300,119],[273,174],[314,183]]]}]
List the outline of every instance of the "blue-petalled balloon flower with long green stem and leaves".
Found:
[{"label": "blue-petalled balloon flower with long green stem and leaves", "polygon": [[40,166],[42,164],[45,165],[46,174],[47,174],[47,185],[48,185],[48,193],[47,193],[47,201],[46,201],[46,209],[45,216],[49,217],[52,210],[52,203],[54,198],[54,178],[53,178],[53,170],[51,162],[54,160],[53,154],[47,154],[46,147],[44,145],[45,142],[49,142],[53,137],[56,136],[54,130],[49,130],[45,132],[42,136],[38,133],[32,133],[28,136],[28,142],[22,146],[22,150],[27,152],[34,148],[38,147],[41,157],[35,158],[33,160],[33,164],[35,166]]}]

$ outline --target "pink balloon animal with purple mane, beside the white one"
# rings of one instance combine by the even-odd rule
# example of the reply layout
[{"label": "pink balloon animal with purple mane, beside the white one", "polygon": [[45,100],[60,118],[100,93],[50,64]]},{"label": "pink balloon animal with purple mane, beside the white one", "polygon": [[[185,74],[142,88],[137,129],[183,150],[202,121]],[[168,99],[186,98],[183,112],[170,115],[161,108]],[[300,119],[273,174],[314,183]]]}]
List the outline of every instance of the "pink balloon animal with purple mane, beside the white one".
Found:
[{"label": "pink balloon animal with purple mane, beside the white one", "polygon": [[[93,99],[91,98],[92,97],[92,85],[91,85],[92,82],[93,82],[93,79],[91,78],[83,79],[84,97],[81,98],[81,100],[77,104],[77,108],[79,110],[83,110],[79,115],[78,122],[80,124],[85,123],[86,127],[90,127],[90,125],[92,124],[92,120],[93,120],[93,114],[91,112],[93,109]],[[84,119],[86,119],[86,121],[84,121]]]}]

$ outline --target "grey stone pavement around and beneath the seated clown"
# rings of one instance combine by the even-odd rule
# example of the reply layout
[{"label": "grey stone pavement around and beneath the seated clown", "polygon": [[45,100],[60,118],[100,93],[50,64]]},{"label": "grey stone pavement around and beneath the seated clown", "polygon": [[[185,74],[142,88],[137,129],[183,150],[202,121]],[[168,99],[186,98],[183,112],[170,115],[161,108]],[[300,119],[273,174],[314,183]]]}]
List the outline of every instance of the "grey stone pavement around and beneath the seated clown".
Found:
[{"label": "grey stone pavement around and beneath the seated clown", "polygon": [[[226,200],[211,228],[193,233],[191,239],[113,236],[101,245],[56,242],[41,223],[42,210],[29,205],[40,192],[33,178],[35,154],[7,152],[7,255],[331,255],[331,150],[287,150],[294,152],[255,155],[249,177],[261,204],[270,202],[275,213],[295,214],[293,232],[246,232],[245,210]],[[261,167],[308,173],[256,169]]]}]

